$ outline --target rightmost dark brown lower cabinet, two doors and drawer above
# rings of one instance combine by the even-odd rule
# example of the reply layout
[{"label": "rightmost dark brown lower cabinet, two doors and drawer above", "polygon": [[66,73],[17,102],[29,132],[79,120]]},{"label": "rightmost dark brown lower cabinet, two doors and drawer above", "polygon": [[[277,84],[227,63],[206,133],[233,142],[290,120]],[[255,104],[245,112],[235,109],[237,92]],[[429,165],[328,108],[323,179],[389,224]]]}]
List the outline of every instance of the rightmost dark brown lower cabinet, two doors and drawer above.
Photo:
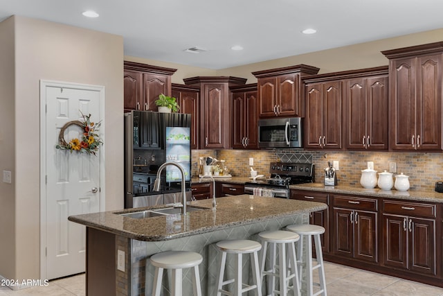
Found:
[{"label": "rightmost dark brown lower cabinet, two doors and drawer above", "polygon": [[[405,212],[430,209],[431,204],[383,202]],[[397,211],[398,212],[398,211]],[[434,212],[435,213],[435,212]],[[431,213],[431,216],[435,214]],[[395,214],[383,214],[383,265],[420,275],[437,275],[436,220]]]}]

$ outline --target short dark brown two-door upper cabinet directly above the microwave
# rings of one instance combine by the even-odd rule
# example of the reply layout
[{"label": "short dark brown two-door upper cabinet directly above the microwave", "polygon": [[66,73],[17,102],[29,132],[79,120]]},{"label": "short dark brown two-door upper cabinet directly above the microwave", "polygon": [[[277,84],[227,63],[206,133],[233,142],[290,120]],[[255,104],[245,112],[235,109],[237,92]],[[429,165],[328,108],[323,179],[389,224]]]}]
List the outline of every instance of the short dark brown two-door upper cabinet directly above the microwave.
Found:
[{"label": "short dark brown two-door upper cabinet directly above the microwave", "polygon": [[257,77],[258,116],[304,117],[301,77],[318,73],[306,64],[253,72]]}]

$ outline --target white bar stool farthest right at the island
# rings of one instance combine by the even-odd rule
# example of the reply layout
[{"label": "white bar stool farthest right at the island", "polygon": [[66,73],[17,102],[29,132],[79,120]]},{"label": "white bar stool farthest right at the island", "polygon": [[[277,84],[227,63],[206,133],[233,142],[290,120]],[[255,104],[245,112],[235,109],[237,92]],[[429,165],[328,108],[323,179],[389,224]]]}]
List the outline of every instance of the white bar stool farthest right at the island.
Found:
[{"label": "white bar stool farthest right at the island", "polygon": [[[305,283],[307,289],[307,295],[320,295],[327,296],[326,292],[326,280],[325,280],[325,265],[323,263],[323,252],[321,250],[320,234],[325,233],[325,228],[318,225],[303,224],[303,225],[289,225],[286,227],[289,231],[295,232],[300,235],[300,241],[298,241],[298,274],[302,279],[302,268],[306,268]],[[316,247],[316,265],[312,265],[312,236],[314,236],[314,244]],[[303,256],[303,239],[307,239],[307,250]],[[314,283],[312,278],[312,272],[318,269],[318,278],[320,283]],[[301,280],[300,280],[301,283]],[[314,294],[314,286],[319,286],[320,290]]]}]

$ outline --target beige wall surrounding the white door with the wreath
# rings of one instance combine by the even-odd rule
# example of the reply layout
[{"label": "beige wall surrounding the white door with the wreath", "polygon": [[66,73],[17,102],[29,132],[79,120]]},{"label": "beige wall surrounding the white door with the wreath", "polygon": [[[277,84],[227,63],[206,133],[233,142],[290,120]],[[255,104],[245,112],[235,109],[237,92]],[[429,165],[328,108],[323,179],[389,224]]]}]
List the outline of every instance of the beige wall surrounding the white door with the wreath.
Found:
[{"label": "beige wall surrounding the white door with the wreath", "polygon": [[[3,268],[1,263],[9,262],[14,253],[3,252],[2,248],[0,275],[38,279],[39,80],[105,86],[105,159],[110,159],[105,161],[106,209],[123,208],[123,37],[26,17],[12,17],[12,21],[15,22],[12,32],[16,42],[16,93],[10,94],[10,99],[16,108],[12,125],[17,135],[14,148],[17,157],[11,170],[16,192],[15,196],[10,194],[15,205],[8,204],[5,211],[15,213],[16,253],[12,266]],[[6,42],[2,39],[0,43]],[[13,71],[12,68],[10,72]],[[6,221],[3,226],[14,228],[14,221]]]}]

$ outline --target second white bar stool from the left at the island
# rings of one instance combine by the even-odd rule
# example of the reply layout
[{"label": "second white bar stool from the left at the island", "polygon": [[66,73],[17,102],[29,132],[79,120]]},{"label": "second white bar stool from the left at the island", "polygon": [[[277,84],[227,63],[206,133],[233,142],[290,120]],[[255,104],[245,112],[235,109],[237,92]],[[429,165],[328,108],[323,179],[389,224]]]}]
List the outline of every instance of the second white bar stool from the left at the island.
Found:
[{"label": "second white bar stool from the left at the island", "polygon": [[[262,296],[262,285],[260,281],[260,270],[258,265],[258,251],[262,245],[256,241],[249,240],[227,240],[219,241],[215,244],[217,250],[221,252],[219,277],[217,277],[217,296],[221,294],[240,296],[249,290],[255,290],[256,296]],[[236,254],[234,278],[224,281],[224,270],[226,268],[226,254]],[[243,254],[251,254],[251,270],[253,275],[253,285],[242,283]],[[234,291],[223,290],[223,286],[234,283]]]}]

